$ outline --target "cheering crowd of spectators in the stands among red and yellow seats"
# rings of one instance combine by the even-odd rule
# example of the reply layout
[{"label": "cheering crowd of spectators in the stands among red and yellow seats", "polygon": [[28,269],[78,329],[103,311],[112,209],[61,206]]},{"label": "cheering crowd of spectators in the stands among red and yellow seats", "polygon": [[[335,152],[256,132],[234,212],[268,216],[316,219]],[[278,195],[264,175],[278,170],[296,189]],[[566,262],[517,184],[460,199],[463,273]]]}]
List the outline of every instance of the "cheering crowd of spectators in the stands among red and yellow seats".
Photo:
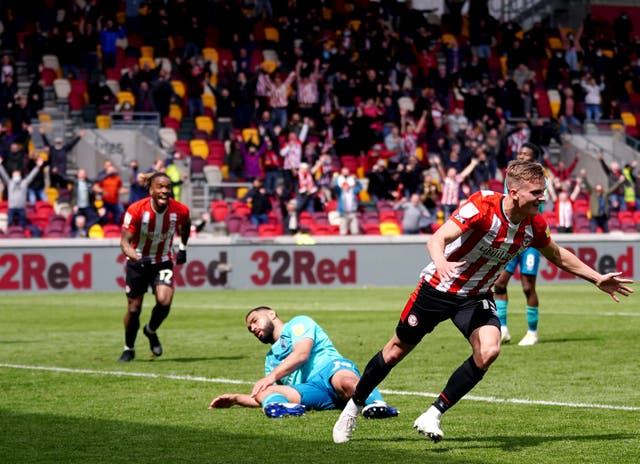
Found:
[{"label": "cheering crowd of spectators in the stands among red and yellow seats", "polygon": [[[583,124],[640,115],[640,38],[629,17],[523,30],[492,17],[486,1],[471,2],[465,16],[461,2],[445,3],[434,16],[392,1],[4,2],[0,156],[8,173],[36,168],[32,121],[54,81],[70,83],[69,111],[88,128],[114,111],[157,112],[172,134],[166,159],[107,163],[91,180],[82,169],[67,172],[83,131],[66,143],[45,137],[48,179],[30,176],[27,231],[16,233],[117,235],[122,195],[146,194],[142,172],[166,171],[179,197],[205,165],[253,186],[212,201],[202,232],[225,222],[242,235],[431,233],[471,193],[502,191],[506,165],[526,141],[546,153],[552,229],[637,231],[636,163],[603,161],[610,180],[592,189],[574,172],[578,154],[568,166],[548,156]],[[18,91],[17,62],[32,79],[27,93]],[[626,131],[638,134],[636,125]],[[190,176],[175,158],[190,160]],[[56,228],[45,185],[70,205]],[[0,214],[8,215],[6,190]],[[606,205],[594,200],[601,193]],[[8,216],[6,233],[14,224]]]}]

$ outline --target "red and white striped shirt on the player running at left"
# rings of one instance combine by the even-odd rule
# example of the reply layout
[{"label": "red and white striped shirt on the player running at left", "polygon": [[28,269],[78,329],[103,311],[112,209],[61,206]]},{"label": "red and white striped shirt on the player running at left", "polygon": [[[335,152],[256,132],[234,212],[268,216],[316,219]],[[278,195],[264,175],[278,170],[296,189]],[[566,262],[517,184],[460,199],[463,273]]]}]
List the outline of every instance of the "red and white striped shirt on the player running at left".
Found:
[{"label": "red and white striped shirt on the player running at left", "polygon": [[163,213],[151,206],[151,198],[143,198],[127,208],[122,229],[133,234],[132,245],[140,258],[155,263],[171,260],[173,238],[178,227],[189,223],[189,208],[169,199]]}]

